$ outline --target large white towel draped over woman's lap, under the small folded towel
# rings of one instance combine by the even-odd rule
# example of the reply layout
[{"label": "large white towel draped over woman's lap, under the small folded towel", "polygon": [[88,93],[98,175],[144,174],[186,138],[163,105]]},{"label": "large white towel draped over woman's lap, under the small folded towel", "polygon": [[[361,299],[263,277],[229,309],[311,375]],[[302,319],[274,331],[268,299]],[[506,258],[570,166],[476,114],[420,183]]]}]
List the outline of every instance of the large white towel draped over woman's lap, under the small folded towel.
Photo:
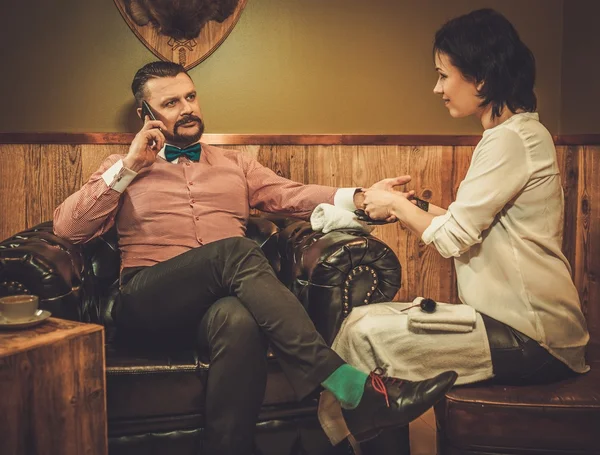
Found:
[{"label": "large white towel draped over woman's lap, under the small folded towel", "polygon": [[[389,376],[421,381],[454,370],[457,384],[493,376],[490,346],[481,315],[471,332],[413,332],[408,328],[412,303],[389,302],[354,308],[340,329],[333,350],[366,373],[376,367]],[[439,304],[438,304],[439,305]]]}]

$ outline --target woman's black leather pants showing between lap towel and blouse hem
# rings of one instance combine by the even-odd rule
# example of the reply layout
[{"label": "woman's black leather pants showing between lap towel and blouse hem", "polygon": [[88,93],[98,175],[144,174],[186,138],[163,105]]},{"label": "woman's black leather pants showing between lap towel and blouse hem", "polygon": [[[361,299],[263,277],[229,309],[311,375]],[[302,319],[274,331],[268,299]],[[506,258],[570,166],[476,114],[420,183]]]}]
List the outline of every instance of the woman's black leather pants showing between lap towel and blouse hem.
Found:
[{"label": "woman's black leather pants showing between lap towel and blouse hem", "polygon": [[481,316],[492,353],[492,382],[506,385],[544,384],[576,374],[537,341],[489,316]]}]

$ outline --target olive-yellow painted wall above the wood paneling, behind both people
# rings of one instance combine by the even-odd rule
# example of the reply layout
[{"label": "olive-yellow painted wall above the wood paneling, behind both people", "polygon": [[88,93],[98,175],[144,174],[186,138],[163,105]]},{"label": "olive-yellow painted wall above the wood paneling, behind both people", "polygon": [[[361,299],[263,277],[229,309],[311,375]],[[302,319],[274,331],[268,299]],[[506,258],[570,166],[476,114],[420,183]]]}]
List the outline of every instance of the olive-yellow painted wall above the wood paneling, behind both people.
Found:
[{"label": "olive-yellow painted wall above the wood paneling, behind both people", "polygon": [[[190,72],[207,132],[479,134],[432,94],[431,42],[445,20],[485,6],[513,21],[535,53],[540,115],[558,133],[563,0],[248,0],[229,38]],[[586,41],[574,28],[569,50]],[[0,43],[0,131],[138,127],[129,84],[155,58],[111,0],[5,0]],[[565,81],[577,85],[568,71]]]}]

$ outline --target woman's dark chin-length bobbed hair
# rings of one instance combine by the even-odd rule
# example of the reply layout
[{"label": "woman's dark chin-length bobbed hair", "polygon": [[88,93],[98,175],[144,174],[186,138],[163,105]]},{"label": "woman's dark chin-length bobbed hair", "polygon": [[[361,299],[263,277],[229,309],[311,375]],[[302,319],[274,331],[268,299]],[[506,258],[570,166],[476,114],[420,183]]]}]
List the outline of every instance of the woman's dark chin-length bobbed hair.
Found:
[{"label": "woman's dark chin-length bobbed hair", "polygon": [[465,79],[483,82],[481,106],[492,105],[492,118],[504,106],[535,111],[535,57],[502,14],[480,9],[448,21],[435,34],[437,54],[446,55]]}]

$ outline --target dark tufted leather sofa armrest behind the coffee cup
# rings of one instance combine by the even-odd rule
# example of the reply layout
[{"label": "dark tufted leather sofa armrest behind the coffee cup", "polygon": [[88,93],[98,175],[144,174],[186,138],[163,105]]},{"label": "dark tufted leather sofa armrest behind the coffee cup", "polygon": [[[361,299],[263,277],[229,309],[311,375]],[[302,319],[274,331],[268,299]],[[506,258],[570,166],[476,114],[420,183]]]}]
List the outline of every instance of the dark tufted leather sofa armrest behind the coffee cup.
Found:
[{"label": "dark tufted leather sofa armrest behind the coffee cup", "polygon": [[81,249],[46,222],[0,242],[0,295],[34,294],[53,316],[85,320]]}]

